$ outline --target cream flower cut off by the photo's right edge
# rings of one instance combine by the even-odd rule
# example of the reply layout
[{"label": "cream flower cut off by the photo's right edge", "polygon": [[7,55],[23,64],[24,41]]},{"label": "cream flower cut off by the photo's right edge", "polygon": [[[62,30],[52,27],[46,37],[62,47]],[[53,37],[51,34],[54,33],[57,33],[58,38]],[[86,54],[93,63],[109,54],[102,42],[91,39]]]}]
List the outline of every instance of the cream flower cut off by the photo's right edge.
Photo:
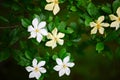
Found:
[{"label": "cream flower cut off by the photo's right edge", "polygon": [[109,15],[110,19],[113,21],[110,25],[110,27],[115,27],[116,30],[120,27],[120,7],[116,11],[117,16],[111,14]]}]

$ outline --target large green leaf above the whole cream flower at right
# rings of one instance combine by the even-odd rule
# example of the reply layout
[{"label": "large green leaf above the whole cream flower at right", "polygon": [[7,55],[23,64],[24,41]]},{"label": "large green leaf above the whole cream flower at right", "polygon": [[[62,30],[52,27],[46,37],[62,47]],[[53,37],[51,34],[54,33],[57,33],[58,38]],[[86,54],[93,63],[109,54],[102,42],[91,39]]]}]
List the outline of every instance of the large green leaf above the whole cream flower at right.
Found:
[{"label": "large green leaf above the whole cream flower at right", "polygon": [[89,3],[89,5],[87,7],[87,11],[88,11],[89,15],[92,17],[97,18],[99,16],[98,9],[93,3]]}]

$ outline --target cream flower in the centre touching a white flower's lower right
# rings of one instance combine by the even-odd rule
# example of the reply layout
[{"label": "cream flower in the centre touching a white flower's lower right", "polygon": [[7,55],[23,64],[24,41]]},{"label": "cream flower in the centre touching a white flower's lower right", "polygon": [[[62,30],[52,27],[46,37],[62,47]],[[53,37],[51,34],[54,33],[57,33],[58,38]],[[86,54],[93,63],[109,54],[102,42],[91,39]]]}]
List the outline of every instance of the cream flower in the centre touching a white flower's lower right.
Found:
[{"label": "cream flower in the centre touching a white flower's lower right", "polygon": [[60,33],[60,32],[57,34],[57,32],[58,32],[57,28],[54,28],[54,30],[52,31],[52,34],[48,33],[47,38],[51,39],[51,40],[46,42],[46,44],[45,44],[46,46],[52,47],[52,49],[53,49],[57,46],[57,43],[59,45],[64,44],[64,40],[62,40],[60,38],[63,38],[65,36],[65,34]]}]

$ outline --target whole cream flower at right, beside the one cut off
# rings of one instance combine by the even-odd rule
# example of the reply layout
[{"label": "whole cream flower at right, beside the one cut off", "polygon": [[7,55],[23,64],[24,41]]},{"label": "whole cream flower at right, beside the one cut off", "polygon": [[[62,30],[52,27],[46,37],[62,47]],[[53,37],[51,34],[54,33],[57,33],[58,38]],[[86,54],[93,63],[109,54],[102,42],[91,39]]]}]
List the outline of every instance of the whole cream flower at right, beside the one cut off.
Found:
[{"label": "whole cream flower at right, beside the one cut off", "polygon": [[104,34],[103,27],[109,27],[108,23],[104,23],[104,16],[100,16],[96,22],[90,22],[90,26],[93,27],[91,30],[91,34],[96,34],[97,30],[99,30],[100,34]]}]

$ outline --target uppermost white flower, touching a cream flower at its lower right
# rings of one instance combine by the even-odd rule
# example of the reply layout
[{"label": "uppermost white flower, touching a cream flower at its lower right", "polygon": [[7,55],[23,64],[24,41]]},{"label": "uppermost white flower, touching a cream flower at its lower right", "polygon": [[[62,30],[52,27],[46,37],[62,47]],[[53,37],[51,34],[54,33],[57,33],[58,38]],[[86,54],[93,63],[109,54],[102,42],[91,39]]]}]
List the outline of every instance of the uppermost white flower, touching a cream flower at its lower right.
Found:
[{"label": "uppermost white flower, touching a cream flower at its lower right", "polygon": [[28,26],[28,32],[31,34],[29,38],[36,38],[38,42],[41,42],[43,36],[47,36],[48,34],[45,26],[45,21],[39,23],[37,18],[33,19],[32,25]]}]

